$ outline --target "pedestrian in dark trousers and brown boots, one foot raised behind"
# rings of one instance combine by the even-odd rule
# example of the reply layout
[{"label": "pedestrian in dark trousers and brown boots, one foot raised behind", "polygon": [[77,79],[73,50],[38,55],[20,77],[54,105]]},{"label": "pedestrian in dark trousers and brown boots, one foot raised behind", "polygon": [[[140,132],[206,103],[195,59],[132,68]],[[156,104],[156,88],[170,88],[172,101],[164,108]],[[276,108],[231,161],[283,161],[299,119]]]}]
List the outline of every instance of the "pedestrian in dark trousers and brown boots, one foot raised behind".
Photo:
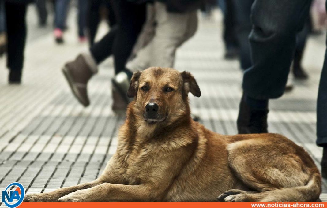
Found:
[{"label": "pedestrian in dark trousers and brown boots, one foot raised behind", "polygon": [[[88,53],[82,53],[74,61],[67,62],[63,73],[77,100],[84,106],[90,104],[87,83],[97,73],[97,65],[110,55],[114,56],[115,74],[125,71],[125,65],[146,18],[146,3],[132,3],[129,0],[112,2],[117,24]],[[115,91],[113,109],[126,107],[126,102],[117,98]]]}]

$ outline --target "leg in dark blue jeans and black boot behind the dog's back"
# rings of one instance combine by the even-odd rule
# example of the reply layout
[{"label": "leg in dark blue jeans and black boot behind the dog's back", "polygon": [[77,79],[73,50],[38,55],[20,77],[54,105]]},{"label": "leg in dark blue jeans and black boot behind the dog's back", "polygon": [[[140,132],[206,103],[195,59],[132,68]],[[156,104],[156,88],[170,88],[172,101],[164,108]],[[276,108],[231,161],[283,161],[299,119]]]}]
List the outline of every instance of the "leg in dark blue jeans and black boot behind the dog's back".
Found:
[{"label": "leg in dark blue jeans and black boot behind the dog's back", "polygon": [[255,0],[250,33],[252,66],[243,77],[237,120],[240,134],[267,132],[268,100],[283,95],[294,55],[296,34],[311,0]]}]

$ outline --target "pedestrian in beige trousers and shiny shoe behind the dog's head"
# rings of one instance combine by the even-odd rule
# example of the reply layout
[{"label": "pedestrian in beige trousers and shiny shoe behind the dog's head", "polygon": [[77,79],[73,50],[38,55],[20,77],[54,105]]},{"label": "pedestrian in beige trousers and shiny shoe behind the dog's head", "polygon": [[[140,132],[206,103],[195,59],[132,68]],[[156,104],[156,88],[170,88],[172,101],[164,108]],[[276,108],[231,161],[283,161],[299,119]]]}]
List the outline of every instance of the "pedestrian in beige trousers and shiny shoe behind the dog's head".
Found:
[{"label": "pedestrian in beige trousers and shiny shoe behind the dog's head", "polygon": [[[191,38],[198,25],[197,10],[200,1],[161,0],[154,3],[154,36],[127,63],[126,70],[113,79],[114,87],[125,100],[131,72],[142,71],[150,66],[173,67],[178,47]],[[150,24],[151,26],[151,24]]]}]

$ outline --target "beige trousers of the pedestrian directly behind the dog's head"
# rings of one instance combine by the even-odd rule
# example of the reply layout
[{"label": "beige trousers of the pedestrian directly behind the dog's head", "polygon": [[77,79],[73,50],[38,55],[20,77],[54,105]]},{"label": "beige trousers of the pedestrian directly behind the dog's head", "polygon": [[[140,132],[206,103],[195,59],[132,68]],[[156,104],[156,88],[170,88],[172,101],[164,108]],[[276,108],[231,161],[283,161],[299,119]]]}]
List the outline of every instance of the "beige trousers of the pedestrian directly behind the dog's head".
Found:
[{"label": "beige trousers of the pedestrian directly behind the dog's head", "polygon": [[197,29],[197,14],[168,13],[163,3],[155,3],[157,27],[153,39],[127,64],[132,71],[142,71],[151,66],[173,67],[176,49]]}]

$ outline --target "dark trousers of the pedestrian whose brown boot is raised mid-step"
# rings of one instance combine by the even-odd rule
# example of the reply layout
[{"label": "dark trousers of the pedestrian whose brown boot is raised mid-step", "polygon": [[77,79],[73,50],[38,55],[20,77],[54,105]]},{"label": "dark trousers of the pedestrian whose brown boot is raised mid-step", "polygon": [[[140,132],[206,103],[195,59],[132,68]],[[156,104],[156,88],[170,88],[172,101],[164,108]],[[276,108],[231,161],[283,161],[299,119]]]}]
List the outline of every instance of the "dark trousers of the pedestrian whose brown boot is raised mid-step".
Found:
[{"label": "dark trousers of the pedestrian whose brown boot is raised mid-step", "polygon": [[146,4],[133,4],[127,0],[114,0],[117,24],[91,48],[97,63],[114,56],[115,74],[125,70],[127,59],[133,49],[146,19]]}]

